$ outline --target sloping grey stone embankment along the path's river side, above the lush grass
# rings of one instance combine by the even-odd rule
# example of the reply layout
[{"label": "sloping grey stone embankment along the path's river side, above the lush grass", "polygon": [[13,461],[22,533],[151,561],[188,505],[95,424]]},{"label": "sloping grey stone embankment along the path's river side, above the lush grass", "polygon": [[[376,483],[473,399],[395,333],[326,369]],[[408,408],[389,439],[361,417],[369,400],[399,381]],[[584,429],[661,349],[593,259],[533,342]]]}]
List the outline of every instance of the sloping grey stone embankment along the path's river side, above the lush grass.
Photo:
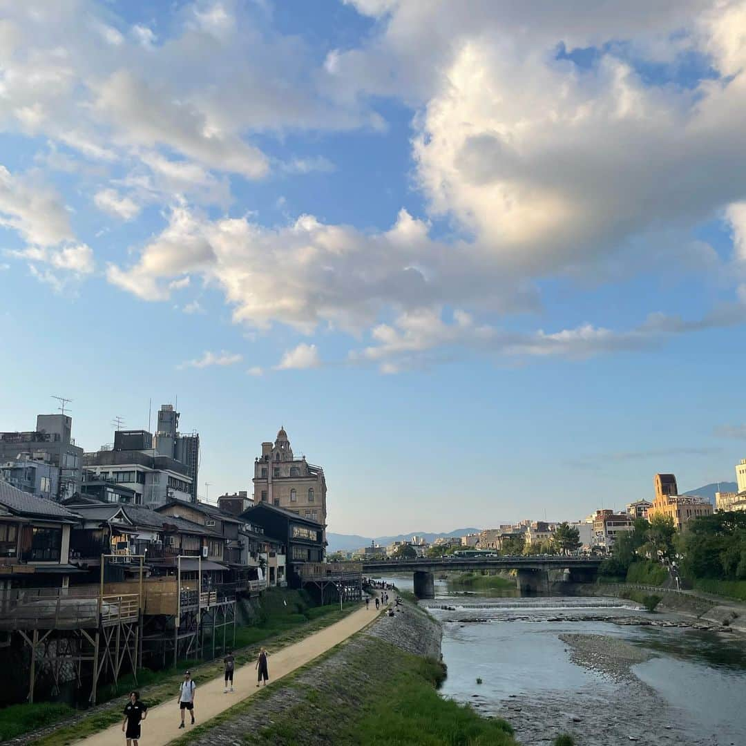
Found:
[{"label": "sloping grey stone embankment along the path's river side, above the lush grass", "polygon": [[[345,713],[358,712],[371,692],[386,687],[403,653],[439,659],[441,637],[437,621],[404,602],[393,617],[377,617],[369,627],[321,659],[239,703],[215,724],[206,725],[202,733],[199,730],[203,729],[199,729],[184,742],[199,746],[339,743]],[[251,670],[247,675],[253,673]],[[242,671],[236,675],[242,675]],[[304,721],[299,733],[298,724]],[[289,722],[292,739],[283,736],[283,724]]]}]

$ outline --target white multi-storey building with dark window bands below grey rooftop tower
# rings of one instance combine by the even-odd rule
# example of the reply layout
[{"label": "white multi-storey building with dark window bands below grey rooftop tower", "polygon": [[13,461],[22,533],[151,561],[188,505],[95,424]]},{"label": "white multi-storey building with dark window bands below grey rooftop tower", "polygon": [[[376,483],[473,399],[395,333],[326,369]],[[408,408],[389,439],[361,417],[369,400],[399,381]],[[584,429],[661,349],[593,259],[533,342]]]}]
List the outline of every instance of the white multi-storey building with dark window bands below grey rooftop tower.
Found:
[{"label": "white multi-storey building with dark window bands below grey rooftop tower", "polygon": [[[141,431],[144,433],[144,431]],[[140,442],[147,442],[144,433]],[[120,440],[119,446],[131,441]],[[84,454],[88,480],[124,484],[134,490],[135,503],[156,508],[170,500],[192,501],[192,477],[189,468],[169,456],[160,456],[150,449],[117,449],[116,434],[113,450],[102,449]]]}]

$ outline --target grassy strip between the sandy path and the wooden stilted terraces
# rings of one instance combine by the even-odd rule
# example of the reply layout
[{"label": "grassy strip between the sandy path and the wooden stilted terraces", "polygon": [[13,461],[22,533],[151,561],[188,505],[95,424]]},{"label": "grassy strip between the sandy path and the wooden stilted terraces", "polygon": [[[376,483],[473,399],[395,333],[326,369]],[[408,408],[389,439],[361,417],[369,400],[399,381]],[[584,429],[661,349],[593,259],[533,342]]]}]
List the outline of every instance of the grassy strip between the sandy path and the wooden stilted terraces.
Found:
[{"label": "grassy strip between the sandy path and the wooden stilted terraces", "polygon": [[[343,604],[340,612],[338,604],[312,606],[310,598],[298,591],[272,590],[262,599],[254,624],[236,627],[236,663],[244,665],[253,660],[257,656],[259,645],[275,650],[291,645],[339,621],[357,608],[360,608],[359,601],[349,602]],[[222,641],[222,637],[219,640]],[[120,703],[132,689],[140,691],[142,700],[148,706],[155,706],[174,696],[174,692],[178,692],[185,668],[192,671],[192,678],[199,686],[219,676],[222,663],[219,660],[203,659],[179,661],[177,668],[160,671],[143,668],[138,671],[137,683],[128,674],[121,677],[116,686],[102,687],[99,692],[100,706],[90,710],[76,712],[69,706],[48,702],[19,704],[0,709],[0,742],[54,723],[60,723],[60,727],[54,733],[41,736],[34,744],[61,746],[91,733],[98,733],[121,719]],[[71,716],[75,716],[72,721]],[[7,727],[4,725],[6,723]]]}]

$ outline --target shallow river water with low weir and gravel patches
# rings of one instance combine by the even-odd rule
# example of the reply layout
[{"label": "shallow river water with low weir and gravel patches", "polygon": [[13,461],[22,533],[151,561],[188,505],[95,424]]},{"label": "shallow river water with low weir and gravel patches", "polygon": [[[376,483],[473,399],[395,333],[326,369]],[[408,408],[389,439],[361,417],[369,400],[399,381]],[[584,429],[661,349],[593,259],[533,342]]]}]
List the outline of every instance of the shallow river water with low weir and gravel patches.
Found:
[{"label": "shallow river water with low weir and gravel patches", "polygon": [[420,605],[443,623],[443,696],[506,719],[524,746],[746,746],[743,636],[641,626],[691,620],[615,598],[517,595],[436,580]]}]

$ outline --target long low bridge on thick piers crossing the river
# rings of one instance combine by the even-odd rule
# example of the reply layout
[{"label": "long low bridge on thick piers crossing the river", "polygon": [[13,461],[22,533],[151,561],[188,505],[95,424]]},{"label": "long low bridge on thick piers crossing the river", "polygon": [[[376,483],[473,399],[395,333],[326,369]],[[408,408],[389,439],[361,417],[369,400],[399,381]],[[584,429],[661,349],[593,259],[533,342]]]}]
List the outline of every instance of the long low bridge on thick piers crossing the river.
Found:
[{"label": "long low bridge on thick piers crossing the river", "polygon": [[593,583],[598,576],[598,557],[418,557],[415,560],[366,560],[363,574],[412,572],[417,598],[434,598],[436,572],[515,570],[520,592],[549,591],[549,571],[562,571],[568,583]]}]

